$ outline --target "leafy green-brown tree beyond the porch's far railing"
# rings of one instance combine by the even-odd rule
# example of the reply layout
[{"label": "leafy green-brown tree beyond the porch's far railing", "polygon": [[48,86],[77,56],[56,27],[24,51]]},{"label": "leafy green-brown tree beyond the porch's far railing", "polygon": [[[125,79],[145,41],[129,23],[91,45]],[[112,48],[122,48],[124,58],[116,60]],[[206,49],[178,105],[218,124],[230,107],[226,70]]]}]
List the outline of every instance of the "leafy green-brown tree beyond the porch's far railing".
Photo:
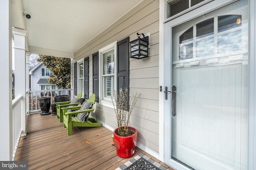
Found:
[{"label": "leafy green-brown tree beyond the porch's far railing", "polygon": [[47,79],[50,84],[56,84],[58,88],[70,88],[70,59],[40,55],[37,61],[52,71],[52,75]]}]

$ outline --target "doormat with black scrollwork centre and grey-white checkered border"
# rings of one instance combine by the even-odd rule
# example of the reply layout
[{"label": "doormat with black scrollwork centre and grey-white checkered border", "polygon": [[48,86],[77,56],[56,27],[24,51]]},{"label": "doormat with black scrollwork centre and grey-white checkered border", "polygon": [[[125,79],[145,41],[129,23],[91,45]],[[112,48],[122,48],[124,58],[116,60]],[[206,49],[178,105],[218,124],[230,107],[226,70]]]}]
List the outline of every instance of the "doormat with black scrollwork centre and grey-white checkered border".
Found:
[{"label": "doormat with black scrollwork centre and grey-white checkered border", "polygon": [[116,170],[168,170],[168,168],[141,153]]}]

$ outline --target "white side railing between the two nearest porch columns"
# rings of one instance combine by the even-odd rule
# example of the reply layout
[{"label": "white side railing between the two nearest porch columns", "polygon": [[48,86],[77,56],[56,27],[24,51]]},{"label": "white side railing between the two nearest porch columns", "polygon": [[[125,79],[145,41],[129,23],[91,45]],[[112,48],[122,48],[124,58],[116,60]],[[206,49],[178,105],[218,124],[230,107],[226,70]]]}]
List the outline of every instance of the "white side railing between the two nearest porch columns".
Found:
[{"label": "white side railing between the two nearest porch columns", "polygon": [[20,136],[22,133],[21,130],[21,121],[20,121],[20,115],[21,115],[21,100],[22,96],[18,96],[12,100],[12,114],[13,114],[13,122],[12,122],[12,149],[13,149],[13,156],[12,160],[14,160],[18,145],[20,142]]}]

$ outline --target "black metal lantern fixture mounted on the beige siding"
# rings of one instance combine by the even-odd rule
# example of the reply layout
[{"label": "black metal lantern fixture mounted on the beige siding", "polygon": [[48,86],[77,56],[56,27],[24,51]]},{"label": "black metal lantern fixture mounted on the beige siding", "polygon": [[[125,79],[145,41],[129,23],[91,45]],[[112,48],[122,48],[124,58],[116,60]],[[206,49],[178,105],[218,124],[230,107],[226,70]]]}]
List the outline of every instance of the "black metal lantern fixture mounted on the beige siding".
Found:
[{"label": "black metal lantern fixture mounted on the beige siding", "polygon": [[[131,50],[131,56],[130,58],[134,59],[143,59],[148,57],[148,36],[145,37],[145,35],[139,34],[138,39],[135,39],[130,42],[130,50]],[[140,35],[143,37],[140,38]]]}]

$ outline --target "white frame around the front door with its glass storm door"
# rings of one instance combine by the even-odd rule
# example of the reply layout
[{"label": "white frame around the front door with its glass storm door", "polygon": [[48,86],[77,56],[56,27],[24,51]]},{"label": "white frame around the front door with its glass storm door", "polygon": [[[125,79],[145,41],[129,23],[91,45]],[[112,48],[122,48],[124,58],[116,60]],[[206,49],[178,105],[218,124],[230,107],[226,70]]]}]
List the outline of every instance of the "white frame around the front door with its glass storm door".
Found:
[{"label": "white frame around the front door with its glass storm door", "polygon": [[[170,139],[171,135],[171,129],[167,129],[167,126],[170,126],[171,120],[170,116],[166,115],[166,108],[165,106],[168,106],[168,100],[165,100],[164,95],[164,88],[165,86],[168,87],[168,89],[171,88],[171,79],[168,78],[169,74],[165,73],[166,63],[170,63],[171,59],[168,59],[170,56],[170,43],[165,42],[165,37],[171,36],[171,32],[167,31],[165,29],[165,23],[169,21],[166,19],[166,1],[167,0],[159,0],[159,159],[165,162],[166,164],[172,166],[176,169],[188,169],[185,166],[179,164],[178,162],[172,161],[170,162],[167,158],[170,158],[170,154],[166,153],[166,150],[170,150],[170,142],[166,141],[166,139]],[[231,2],[234,2],[236,0],[214,0],[217,2],[215,6],[210,6],[211,3],[209,3],[209,6],[205,6],[205,10],[194,10],[193,12],[190,12],[188,14],[184,14],[183,16],[179,18],[173,19],[172,27],[186,22],[188,20],[191,20],[195,18],[196,16],[200,16],[208,11],[214,10],[216,8],[220,8],[222,6],[225,6],[227,4],[230,4]],[[248,64],[248,169],[255,169],[256,168],[256,145],[254,145],[254,141],[256,140],[256,60],[254,59],[256,55],[256,12],[254,11],[256,9],[256,2],[254,0],[248,0],[248,9],[249,9],[249,64]],[[207,4],[206,4],[207,5]],[[199,14],[198,14],[199,13]],[[170,58],[170,57],[169,57]],[[170,70],[167,70],[166,72],[171,72]],[[167,78],[167,79],[166,79]],[[161,90],[162,87],[162,90]],[[168,94],[168,98],[170,98],[171,95]],[[170,106],[167,108],[168,110],[171,109]],[[254,114],[255,113],[255,114]]]}]

